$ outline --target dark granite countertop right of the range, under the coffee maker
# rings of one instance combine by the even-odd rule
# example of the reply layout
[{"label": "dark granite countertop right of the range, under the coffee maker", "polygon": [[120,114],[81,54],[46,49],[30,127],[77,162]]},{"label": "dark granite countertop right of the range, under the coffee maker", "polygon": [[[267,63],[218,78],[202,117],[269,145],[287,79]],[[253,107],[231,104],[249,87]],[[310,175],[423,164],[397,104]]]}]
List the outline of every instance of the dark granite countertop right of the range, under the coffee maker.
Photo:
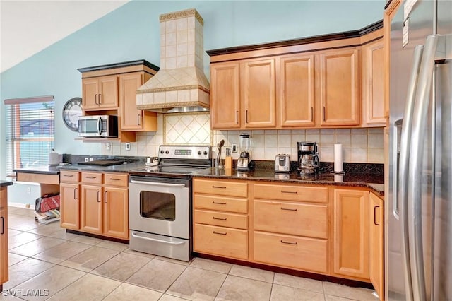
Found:
[{"label": "dark granite countertop right of the range, under the coffee maker", "polygon": [[213,179],[251,179],[254,181],[280,183],[367,187],[380,196],[384,195],[384,177],[372,174],[346,173],[345,175],[340,176],[326,172],[319,175],[299,175],[298,172],[275,173],[274,170],[260,169],[241,172],[235,169],[225,170],[215,167],[195,172],[193,177],[208,177]]}]

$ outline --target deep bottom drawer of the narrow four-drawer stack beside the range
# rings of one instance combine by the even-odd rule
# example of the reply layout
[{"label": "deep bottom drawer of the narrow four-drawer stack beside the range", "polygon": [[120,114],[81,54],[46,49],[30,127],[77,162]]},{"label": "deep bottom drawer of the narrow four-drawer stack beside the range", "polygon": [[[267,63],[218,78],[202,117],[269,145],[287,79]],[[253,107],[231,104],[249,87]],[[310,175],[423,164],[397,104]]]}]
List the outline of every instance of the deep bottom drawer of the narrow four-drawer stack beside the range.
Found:
[{"label": "deep bottom drawer of the narrow four-drawer stack beside the range", "polygon": [[194,252],[248,259],[248,231],[195,224]]}]

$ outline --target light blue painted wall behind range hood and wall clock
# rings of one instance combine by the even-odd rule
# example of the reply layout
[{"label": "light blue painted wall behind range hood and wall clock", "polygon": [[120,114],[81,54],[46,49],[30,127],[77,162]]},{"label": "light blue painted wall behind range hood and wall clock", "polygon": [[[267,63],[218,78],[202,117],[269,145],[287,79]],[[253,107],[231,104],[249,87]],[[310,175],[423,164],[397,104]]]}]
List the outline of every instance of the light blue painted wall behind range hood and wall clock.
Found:
[{"label": "light blue painted wall behind range hood and wall clock", "polygon": [[[59,153],[101,153],[100,143],[75,141],[64,126],[64,102],[81,96],[77,68],[145,59],[160,65],[162,13],[196,8],[204,19],[204,49],[260,44],[357,30],[383,18],[378,1],[131,1],[0,74],[3,100],[55,95],[55,149]],[[68,20],[70,21],[70,20]],[[204,69],[209,72],[205,54]],[[4,118],[0,158],[5,158]],[[5,175],[0,162],[0,178]]]}]

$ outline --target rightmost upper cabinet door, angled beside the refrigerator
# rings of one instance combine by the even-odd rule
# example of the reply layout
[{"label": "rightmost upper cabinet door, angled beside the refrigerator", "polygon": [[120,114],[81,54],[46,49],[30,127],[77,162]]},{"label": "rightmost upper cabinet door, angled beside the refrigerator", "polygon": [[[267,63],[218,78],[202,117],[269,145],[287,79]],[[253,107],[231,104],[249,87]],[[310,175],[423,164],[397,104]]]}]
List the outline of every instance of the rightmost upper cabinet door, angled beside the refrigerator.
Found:
[{"label": "rightmost upper cabinet door, angled beside the refrigerator", "polygon": [[364,125],[386,126],[384,117],[383,40],[362,47],[362,117]]}]

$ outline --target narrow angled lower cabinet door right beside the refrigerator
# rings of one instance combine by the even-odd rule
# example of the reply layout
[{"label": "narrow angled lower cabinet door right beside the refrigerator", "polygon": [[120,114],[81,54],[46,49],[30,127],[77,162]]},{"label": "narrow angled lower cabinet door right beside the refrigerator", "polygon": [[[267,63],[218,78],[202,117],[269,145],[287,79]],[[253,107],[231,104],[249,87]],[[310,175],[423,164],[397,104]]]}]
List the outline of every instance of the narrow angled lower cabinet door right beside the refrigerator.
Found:
[{"label": "narrow angled lower cabinet door right beside the refrigerator", "polygon": [[384,208],[383,201],[370,193],[370,281],[380,300],[384,298]]}]

